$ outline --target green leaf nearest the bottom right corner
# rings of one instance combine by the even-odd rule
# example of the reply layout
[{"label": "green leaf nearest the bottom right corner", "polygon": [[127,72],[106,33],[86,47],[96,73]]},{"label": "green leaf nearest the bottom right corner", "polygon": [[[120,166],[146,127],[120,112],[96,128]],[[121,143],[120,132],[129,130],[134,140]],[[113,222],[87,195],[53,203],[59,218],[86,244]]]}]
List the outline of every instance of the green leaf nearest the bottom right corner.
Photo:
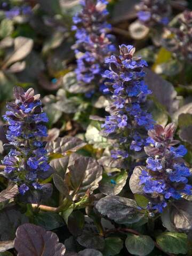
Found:
[{"label": "green leaf nearest the bottom right corner", "polygon": [[165,232],[156,238],[157,244],[164,252],[174,254],[187,253],[187,235],[182,233]]}]

